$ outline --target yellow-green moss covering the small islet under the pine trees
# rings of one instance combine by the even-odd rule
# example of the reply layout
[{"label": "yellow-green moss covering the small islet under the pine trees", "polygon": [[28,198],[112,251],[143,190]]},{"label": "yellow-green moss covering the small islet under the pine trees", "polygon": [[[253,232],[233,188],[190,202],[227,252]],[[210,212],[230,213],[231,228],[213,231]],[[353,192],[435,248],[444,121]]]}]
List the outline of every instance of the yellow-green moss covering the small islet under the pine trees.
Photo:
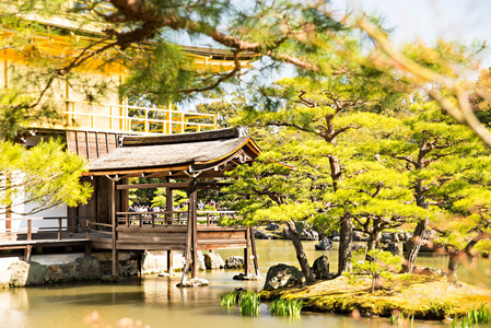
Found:
[{"label": "yellow-green moss covering the small islet under the pine trees", "polygon": [[338,277],[302,288],[262,291],[262,300],[301,298],[304,309],[389,317],[393,312],[418,319],[443,319],[464,316],[481,304],[491,306],[491,291],[460,283],[449,284],[446,279],[419,274],[396,274],[383,279],[384,290],[371,293],[370,277],[348,279]]}]

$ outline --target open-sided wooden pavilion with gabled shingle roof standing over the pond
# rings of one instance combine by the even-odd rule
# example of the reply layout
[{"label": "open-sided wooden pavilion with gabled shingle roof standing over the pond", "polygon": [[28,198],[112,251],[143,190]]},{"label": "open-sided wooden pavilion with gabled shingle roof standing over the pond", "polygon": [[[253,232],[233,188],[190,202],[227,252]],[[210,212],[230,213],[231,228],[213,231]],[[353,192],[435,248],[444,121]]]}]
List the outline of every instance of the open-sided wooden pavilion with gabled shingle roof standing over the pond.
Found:
[{"label": "open-sided wooden pavilion with gabled shingle roof standing over the pond", "polygon": [[[215,178],[237,165],[247,164],[260,153],[244,128],[196,133],[122,137],[119,147],[89,163],[84,178],[94,187],[87,204],[71,209],[72,218],[86,222],[91,247],[112,249],[113,274],[118,272],[118,250],[167,250],[172,272],[172,251],[184,250],[188,271],[197,277],[197,251],[243,248],[245,274],[250,274],[250,251],[258,272],[254,233],[248,227],[217,225],[217,213],[199,212],[197,190],[220,188]],[[156,177],[160,184],[129,184],[130,177]],[[129,189],[166,188],[166,210],[128,212]],[[188,211],[173,209],[172,191],[188,190]],[[233,214],[221,212],[219,214]],[[201,215],[201,216],[199,216]],[[77,226],[78,222],[69,222]],[[250,248],[249,248],[250,246]]]}]

